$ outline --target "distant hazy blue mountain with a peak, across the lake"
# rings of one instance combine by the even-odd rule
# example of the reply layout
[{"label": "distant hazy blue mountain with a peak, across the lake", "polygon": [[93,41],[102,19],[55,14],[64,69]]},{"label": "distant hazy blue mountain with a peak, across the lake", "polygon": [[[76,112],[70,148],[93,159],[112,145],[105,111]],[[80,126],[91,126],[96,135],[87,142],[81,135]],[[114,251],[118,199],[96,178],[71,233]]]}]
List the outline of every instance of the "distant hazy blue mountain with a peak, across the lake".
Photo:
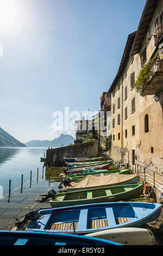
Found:
[{"label": "distant hazy blue mountain with a peak, across the lake", "polygon": [[53,139],[53,141],[39,141],[35,139],[34,141],[26,142],[27,147],[49,147],[49,148],[58,148],[61,144],[67,146],[74,143],[74,138],[71,135],[61,134],[58,138]]}]

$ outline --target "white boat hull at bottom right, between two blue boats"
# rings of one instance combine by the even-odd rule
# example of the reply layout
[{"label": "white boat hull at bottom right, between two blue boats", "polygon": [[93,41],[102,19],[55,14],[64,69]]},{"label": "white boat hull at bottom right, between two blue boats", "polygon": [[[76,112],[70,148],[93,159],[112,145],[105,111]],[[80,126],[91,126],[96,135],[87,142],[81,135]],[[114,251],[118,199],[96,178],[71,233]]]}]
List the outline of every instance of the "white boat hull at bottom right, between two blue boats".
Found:
[{"label": "white boat hull at bottom right, between two blue boats", "polygon": [[121,243],[122,245],[154,245],[155,238],[150,229],[145,228],[114,228],[85,236],[98,237]]}]

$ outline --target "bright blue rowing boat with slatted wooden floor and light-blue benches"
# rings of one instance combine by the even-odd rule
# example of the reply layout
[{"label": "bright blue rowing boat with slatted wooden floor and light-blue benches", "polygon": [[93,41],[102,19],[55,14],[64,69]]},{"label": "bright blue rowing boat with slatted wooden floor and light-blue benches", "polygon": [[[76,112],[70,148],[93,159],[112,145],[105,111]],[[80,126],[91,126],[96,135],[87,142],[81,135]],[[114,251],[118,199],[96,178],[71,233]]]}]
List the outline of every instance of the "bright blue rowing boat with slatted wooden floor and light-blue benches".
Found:
[{"label": "bright blue rowing boat with slatted wooden floor and light-blue benches", "polygon": [[162,204],[114,202],[40,210],[27,230],[86,235],[122,227],[141,227],[155,221]]}]

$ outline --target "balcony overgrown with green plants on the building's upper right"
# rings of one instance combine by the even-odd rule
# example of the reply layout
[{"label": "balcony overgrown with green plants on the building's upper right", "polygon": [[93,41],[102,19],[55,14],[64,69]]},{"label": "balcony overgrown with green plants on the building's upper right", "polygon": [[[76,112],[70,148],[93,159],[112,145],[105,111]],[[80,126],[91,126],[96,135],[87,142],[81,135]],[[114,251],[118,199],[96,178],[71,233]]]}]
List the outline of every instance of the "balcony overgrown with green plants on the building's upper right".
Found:
[{"label": "balcony overgrown with green plants on the building's upper right", "polygon": [[[143,75],[142,84],[139,84],[139,93],[141,96],[155,95],[163,92],[163,59],[153,59],[148,65],[148,71]],[[141,71],[140,71],[141,72]]]}]

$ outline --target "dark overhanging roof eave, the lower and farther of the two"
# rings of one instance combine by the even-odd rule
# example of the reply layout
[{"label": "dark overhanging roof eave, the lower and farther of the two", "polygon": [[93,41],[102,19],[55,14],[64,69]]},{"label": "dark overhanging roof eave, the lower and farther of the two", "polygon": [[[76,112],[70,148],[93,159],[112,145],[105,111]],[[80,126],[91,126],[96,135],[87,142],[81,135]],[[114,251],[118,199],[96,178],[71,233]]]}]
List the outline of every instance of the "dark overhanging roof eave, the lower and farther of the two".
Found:
[{"label": "dark overhanging roof eave, the lower and farther of the two", "polygon": [[116,75],[114,81],[111,84],[111,87],[110,87],[108,93],[112,92],[112,89],[115,87],[118,79],[122,75],[122,72],[123,72],[123,70],[124,70],[124,68],[125,68],[125,66],[127,64],[128,58],[129,58],[129,53],[131,51],[131,47],[133,45],[133,42],[134,42],[134,39],[135,39],[135,35],[136,35],[136,31],[128,35],[126,46],[124,48],[123,56],[122,56],[122,59],[121,59],[120,67],[118,69],[118,72],[117,72],[117,75]]}]

